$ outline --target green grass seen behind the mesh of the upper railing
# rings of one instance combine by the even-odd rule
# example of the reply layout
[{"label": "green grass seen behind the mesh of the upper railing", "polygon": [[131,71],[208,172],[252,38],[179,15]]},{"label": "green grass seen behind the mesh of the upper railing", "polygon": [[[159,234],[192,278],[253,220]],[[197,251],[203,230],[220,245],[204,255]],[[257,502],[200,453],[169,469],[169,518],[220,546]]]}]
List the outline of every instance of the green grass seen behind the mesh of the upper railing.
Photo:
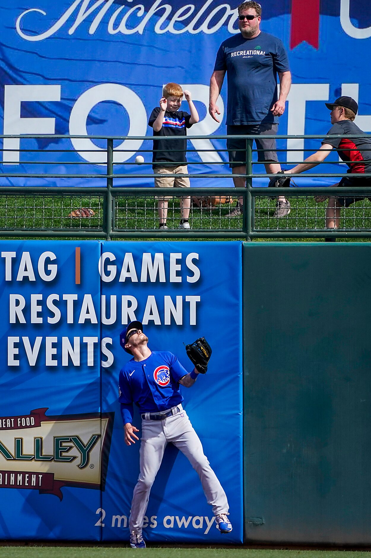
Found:
[{"label": "green grass seen behind the mesh of the upper railing", "polygon": [[[290,201],[291,213],[286,218],[275,219],[273,217],[276,205],[275,199],[265,196],[256,198],[255,230],[259,232],[279,232],[280,230],[296,232],[324,228],[326,202],[316,204],[314,198],[305,198],[304,196],[301,198],[292,196]],[[192,229],[210,232],[210,239],[213,239],[213,232],[221,229],[228,232],[241,232],[241,238],[243,238],[242,218],[227,217],[228,212],[235,207],[235,204],[236,199],[231,204],[217,204],[212,207],[198,208],[193,204],[189,219]],[[84,207],[93,209],[95,211],[94,217],[69,217],[72,210]],[[0,196],[0,237],[1,229],[14,230],[14,237],[16,237],[18,231],[21,232],[25,229],[101,230],[102,218],[103,202],[102,198],[97,195],[84,196],[84,198],[72,195],[41,196],[36,194]],[[179,199],[174,198],[169,200],[168,232],[172,229],[177,230],[179,221]],[[153,197],[118,197],[115,207],[115,227],[122,231],[157,230],[157,200]],[[340,227],[348,230],[358,228],[371,230],[370,201],[365,199],[358,201],[350,208],[342,209]],[[295,240],[303,239],[295,238]],[[275,238],[275,240],[281,239]],[[355,238],[341,240],[353,241]]]}]

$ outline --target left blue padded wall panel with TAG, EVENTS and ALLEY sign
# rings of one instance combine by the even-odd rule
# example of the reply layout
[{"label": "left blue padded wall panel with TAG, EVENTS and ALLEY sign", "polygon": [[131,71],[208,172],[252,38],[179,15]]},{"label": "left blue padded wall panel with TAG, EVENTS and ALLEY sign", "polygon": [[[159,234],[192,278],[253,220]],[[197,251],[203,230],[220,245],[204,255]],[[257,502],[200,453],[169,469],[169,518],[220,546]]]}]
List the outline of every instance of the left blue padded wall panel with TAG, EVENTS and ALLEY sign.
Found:
[{"label": "left blue padded wall panel with TAG, EVENTS and ALLEY sign", "polygon": [[100,244],[9,240],[0,255],[0,537],[99,540],[113,423],[89,272]]}]

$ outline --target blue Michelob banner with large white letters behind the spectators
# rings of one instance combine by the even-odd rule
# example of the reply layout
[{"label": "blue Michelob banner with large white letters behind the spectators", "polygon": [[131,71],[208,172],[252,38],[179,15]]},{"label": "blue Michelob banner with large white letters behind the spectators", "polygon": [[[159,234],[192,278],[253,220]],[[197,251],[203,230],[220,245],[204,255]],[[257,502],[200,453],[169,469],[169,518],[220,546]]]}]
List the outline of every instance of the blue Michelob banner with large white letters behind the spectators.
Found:
[{"label": "blue Michelob banner with large white letters behind the spectators", "polygon": [[[1,169],[18,173],[51,170],[46,164],[26,165],[36,157],[76,163],[59,165],[60,174],[104,174],[104,166],[99,166],[105,161],[104,141],[56,140],[53,134],[152,135],[147,121],[158,105],[162,85],[177,81],[191,90],[201,117],[190,132],[211,136],[188,142],[189,148],[198,150],[189,154],[189,161],[204,162],[190,165],[189,171],[228,172],[226,152],[221,151],[225,141],[212,139],[226,133],[226,85],[219,100],[222,123],[218,126],[207,115],[208,84],[219,45],[238,32],[237,4],[222,0],[0,0],[0,133],[51,136],[22,140],[20,146],[18,140],[9,138],[3,143],[8,151],[2,154]],[[369,0],[266,0],[262,10],[261,28],[284,42],[292,70],[293,85],[279,133],[325,134],[330,122],[324,101],[340,94],[358,99],[356,123],[371,131]],[[134,162],[138,150],[151,146],[149,141],[115,142],[117,150],[128,150],[115,152],[115,172],[152,172],[149,165],[128,164]],[[304,145],[294,139],[279,144],[283,150],[286,146],[299,150],[289,153],[289,160],[300,161],[303,148],[315,150],[319,141],[307,140]],[[42,159],[40,154],[19,152],[19,147],[42,149]],[[51,152],[58,149],[71,153]],[[149,162],[151,153],[144,157]],[[286,153],[280,157],[285,160]],[[335,162],[335,154],[331,157]],[[323,169],[339,172],[344,167],[336,164]],[[254,171],[260,170],[261,166],[254,166]],[[323,184],[323,180],[331,182],[311,181],[307,175],[298,184]],[[255,180],[257,185],[266,183],[266,179]],[[13,178],[4,184],[94,186],[104,180]],[[153,180],[118,179],[115,184],[150,186]],[[231,186],[232,181],[205,179],[201,183],[193,179],[192,184]]]}]

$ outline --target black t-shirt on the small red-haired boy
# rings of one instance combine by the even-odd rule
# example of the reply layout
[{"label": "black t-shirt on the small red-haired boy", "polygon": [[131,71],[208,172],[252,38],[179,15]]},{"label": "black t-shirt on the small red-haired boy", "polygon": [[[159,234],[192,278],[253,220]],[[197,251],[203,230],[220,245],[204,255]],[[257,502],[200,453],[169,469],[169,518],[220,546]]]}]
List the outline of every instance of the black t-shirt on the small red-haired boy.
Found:
[{"label": "black t-shirt on the small red-haired boy", "polygon": [[[158,117],[160,107],[155,107],[149,117],[148,125],[153,127],[155,119]],[[158,140],[153,140],[152,167],[184,165],[187,163],[187,128],[191,128],[189,123],[191,114],[177,110],[170,112],[165,110],[162,128],[159,132],[153,131],[154,136],[159,136]],[[172,136],[173,140],[161,140],[161,137]]]}]

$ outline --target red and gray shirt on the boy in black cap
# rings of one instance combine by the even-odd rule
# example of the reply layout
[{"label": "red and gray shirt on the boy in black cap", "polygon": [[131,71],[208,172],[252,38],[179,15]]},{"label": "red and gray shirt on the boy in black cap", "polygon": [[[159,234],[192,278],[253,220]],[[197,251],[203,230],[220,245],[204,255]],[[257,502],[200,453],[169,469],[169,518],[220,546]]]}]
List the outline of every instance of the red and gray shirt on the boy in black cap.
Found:
[{"label": "red and gray shirt on the boy in black cap", "polygon": [[[359,134],[358,138],[333,138],[332,134]],[[371,137],[367,136],[357,124],[351,120],[341,120],[336,122],[329,129],[328,136],[324,138],[322,144],[329,143],[336,148],[342,161],[347,161],[350,173],[371,172]],[[348,162],[350,161],[350,162]]]}]

